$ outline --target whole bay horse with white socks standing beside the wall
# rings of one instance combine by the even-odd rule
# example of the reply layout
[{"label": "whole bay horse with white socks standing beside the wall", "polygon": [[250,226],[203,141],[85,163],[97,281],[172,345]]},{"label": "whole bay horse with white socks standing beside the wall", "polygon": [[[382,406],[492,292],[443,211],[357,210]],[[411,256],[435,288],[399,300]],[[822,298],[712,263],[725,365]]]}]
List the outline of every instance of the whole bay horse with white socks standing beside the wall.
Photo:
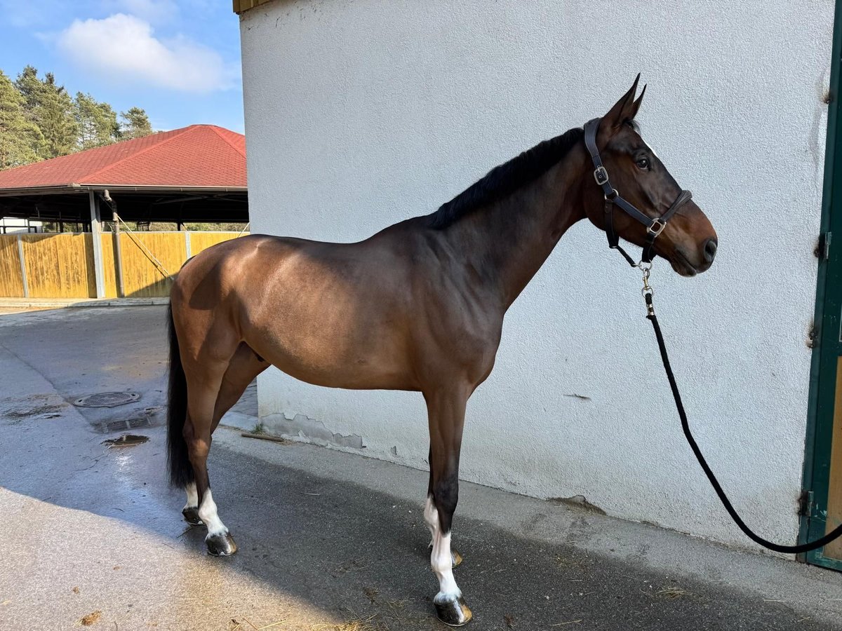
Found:
[{"label": "whole bay horse with white socks standing beside the wall", "polygon": [[[597,127],[589,123],[590,136],[575,128],[541,142],[432,214],[358,243],[245,236],[184,264],[169,306],[168,463],[187,491],[184,518],[207,527],[210,554],[237,550],[210,492],[211,434],[258,374],[274,365],[332,388],[418,391],[429,416],[434,605],[445,623],[470,620],[453,576],[461,557],[450,549],[462,426],[493,368],[506,310],[586,217],[615,246],[621,236],[646,247],[682,276],[710,268],[716,254],[711,222],[634,122],[639,78]],[[605,212],[612,200],[638,215]]]}]

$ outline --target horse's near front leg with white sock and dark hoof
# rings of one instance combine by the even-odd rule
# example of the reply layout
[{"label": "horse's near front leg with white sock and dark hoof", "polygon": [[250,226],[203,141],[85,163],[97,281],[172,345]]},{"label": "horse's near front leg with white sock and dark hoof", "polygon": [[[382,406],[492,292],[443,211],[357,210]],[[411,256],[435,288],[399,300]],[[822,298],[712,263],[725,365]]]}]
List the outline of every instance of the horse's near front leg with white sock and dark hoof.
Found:
[{"label": "horse's near front leg with white sock and dark hoof", "polygon": [[439,580],[439,593],[435,595],[433,603],[439,619],[454,627],[460,627],[472,617],[471,609],[453,576],[455,557],[450,549],[453,513],[459,501],[459,452],[469,395],[470,390],[467,388],[460,390],[450,387],[424,392],[429,415],[432,491],[432,497],[424,510],[424,518],[433,536],[430,565]]}]

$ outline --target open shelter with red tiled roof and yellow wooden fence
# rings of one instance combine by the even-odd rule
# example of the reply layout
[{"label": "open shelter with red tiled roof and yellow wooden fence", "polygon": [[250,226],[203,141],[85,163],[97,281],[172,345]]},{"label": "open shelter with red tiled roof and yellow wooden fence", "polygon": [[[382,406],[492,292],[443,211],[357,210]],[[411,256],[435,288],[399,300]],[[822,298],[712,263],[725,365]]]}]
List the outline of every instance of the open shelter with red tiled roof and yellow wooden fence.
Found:
[{"label": "open shelter with red tiled roof and yellow wooden fence", "polygon": [[[182,231],[185,223],[248,224],[245,152],[242,134],[190,125],[0,172],[0,217],[58,228],[0,235],[0,296],[167,294],[187,258],[237,236]],[[125,232],[125,221],[179,231]]]}]

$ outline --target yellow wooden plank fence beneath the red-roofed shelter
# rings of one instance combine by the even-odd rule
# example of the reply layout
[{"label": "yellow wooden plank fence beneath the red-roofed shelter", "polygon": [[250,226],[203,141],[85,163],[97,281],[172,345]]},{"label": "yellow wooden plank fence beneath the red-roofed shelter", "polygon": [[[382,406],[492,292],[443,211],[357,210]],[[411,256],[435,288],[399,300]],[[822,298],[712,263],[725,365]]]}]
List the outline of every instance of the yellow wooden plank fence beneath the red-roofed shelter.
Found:
[{"label": "yellow wooden plank fence beneath the red-roofed shelter", "polygon": [[[184,261],[241,234],[103,232],[105,297],[118,297],[120,271],[125,297],[166,296]],[[0,235],[0,298],[96,298],[93,259],[90,232]]]}]

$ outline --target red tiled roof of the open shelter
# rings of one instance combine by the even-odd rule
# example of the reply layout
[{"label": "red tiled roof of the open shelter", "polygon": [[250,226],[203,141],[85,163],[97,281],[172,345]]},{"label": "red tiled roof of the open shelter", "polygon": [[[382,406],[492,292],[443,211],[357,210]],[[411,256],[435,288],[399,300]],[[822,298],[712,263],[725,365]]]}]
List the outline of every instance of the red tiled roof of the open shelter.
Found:
[{"label": "red tiled roof of the open shelter", "polygon": [[246,137],[216,125],[116,142],[0,171],[3,188],[246,186]]}]

